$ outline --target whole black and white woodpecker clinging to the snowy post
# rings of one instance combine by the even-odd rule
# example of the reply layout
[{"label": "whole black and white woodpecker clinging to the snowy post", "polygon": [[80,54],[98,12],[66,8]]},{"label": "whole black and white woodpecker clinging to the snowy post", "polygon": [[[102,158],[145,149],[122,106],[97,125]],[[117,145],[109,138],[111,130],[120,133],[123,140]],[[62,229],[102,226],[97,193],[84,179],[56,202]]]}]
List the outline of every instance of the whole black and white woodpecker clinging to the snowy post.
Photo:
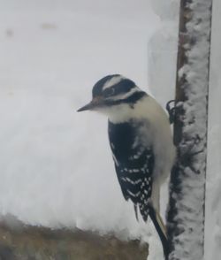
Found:
[{"label": "whole black and white woodpecker clinging to the snowy post", "polygon": [[78,111],[99,111],[108,121],[110,149],[122,193],[146,222],[152,219],[167,254],[160,218],[160,187],[175,158],[171,126],[164,109],[133,80],[114,74],[95,83],[93,99]]}]

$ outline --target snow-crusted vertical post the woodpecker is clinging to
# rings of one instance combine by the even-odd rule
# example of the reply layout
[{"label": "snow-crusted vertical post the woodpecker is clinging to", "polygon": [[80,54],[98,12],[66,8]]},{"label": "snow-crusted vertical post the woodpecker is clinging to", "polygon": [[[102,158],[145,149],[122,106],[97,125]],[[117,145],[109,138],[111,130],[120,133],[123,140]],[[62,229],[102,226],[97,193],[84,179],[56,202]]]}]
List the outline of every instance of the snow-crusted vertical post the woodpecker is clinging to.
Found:
[{"label": "snow-crusted vertical post the woodpecker is clinging to", "polygon": [[174,121],[177,161],[167,215],[170,260],[202,260],[212,0],[181,0]]}]

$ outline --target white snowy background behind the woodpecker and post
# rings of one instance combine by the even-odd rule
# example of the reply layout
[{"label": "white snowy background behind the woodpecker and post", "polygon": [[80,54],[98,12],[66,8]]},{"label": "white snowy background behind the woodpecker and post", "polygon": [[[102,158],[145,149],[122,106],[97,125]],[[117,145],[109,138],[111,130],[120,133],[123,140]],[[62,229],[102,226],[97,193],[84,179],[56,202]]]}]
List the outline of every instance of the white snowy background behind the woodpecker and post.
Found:
[{"label": "white snowy background behind the woodpecker and post", "polygon": [[[131,78],[162,105],[173,97],[178,4],[0,0],[2,215],[31,225],[141,236],[159,246],[152,227],[136,222],[121,195],[106,119],[76,110],[89,101],[95,81],[110,73]],[[214,0],[206,259],[221,254],[220,14]]]}]

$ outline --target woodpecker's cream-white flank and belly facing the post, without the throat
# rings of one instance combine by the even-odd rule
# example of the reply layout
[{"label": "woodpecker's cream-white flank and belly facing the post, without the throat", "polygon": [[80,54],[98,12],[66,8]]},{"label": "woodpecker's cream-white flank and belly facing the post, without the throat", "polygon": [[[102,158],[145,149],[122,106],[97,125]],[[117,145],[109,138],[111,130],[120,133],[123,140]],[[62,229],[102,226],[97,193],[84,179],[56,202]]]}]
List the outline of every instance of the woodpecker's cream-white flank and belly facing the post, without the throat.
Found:
[{"label": "woodpecker's cream-white flank and belly facing the post, without the throat", "polygon": [[159,212],[160,187],[170,175],[176,157],[171,126],[164,109],[150,96],[146,97],[145,102],[138,103],[136,109],[138,109],[137,114],[148,121],[146,136],[152,144],[155,155],[151,200]]}]

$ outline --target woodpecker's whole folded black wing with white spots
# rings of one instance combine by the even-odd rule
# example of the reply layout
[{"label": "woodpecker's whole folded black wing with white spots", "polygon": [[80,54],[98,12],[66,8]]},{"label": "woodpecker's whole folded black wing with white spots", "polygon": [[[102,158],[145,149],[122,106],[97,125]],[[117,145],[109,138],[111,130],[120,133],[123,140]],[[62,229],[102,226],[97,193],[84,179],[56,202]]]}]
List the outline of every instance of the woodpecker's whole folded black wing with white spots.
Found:
[{"label": "woodpecker's whole folded black wing with white spots", "polygon": [[109,138],[122,193],[126,200],[133,202],[136,216],[136,208],[139,207],[142,218],[147,221],[152,192],[153,151],[137,140],[135,128],[130,123],[109,123]]}]

